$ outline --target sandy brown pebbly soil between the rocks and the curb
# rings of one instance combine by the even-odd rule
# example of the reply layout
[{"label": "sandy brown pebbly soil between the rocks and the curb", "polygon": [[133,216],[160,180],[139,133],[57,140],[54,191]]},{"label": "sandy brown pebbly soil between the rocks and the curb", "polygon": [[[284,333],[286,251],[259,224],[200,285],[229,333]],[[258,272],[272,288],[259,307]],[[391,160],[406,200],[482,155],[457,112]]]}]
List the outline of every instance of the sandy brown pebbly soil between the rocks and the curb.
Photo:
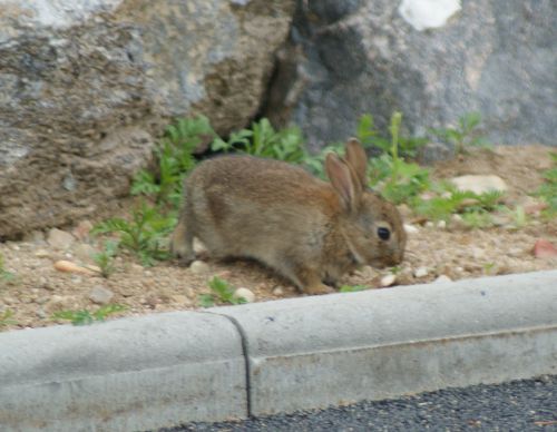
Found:
[{"label": "sandy brown pebbly soil between the rocks and the curb", "polygon": [[[549,150],[544,146],[496,147],[433,166],[432,175],[437,179],[467,174],[501,177],[509,187],[505,204],[510,208],[524,206],[528,222],[517,227],[508,213],[501,213],[494,216],[497,226],[470,229],[458,220],[448,225],[426,222],[402,206],[405,223],[414,229],[409,234],[407,257],[397,269],[394,286],[389,289],[429,283],[440,276],[457,281],[557,268],[557,257],[537,258],[532,254],[538,239],[557,245],[557,220],[543,217],[539,213],[541,202],[528,195],[543,183],[541,171],[551,166]],[[129,212],[129,200],[124,200],[120,213]],[[215,275],[234,287],[248,288],[257,302],[302,295],[271,271],[243,261],[219,263],[206,259],[208,272],[199,274],[175,262],[143,267],[131,256],[118,256],[116,269],[108,278],[96,272],[57,271],[53,263],[59,259],[92,264],[89,254],[98,247],[98,238],[90,237],[87,232],[96,222],[65,227],[65,232],[74,235],[66,249],[49,245],[48,234],[39,232],[30,233],[22,242],[0,244],[4,271],[12,275],[10,278],[0,275],[0,331],[59,324],[61,321],[51,317],[57,311],[96,311],[99,305],[89,297],[98,287],[114,293],[110,303],[127,307],[117,316],[198,308],[199,296],[209,293],[207,279]],[[390,273],[390,269],[363,267],[346,275],[343,283],[381,288],[382,278]],[[13,315],[2,325],[6,311]]]}]

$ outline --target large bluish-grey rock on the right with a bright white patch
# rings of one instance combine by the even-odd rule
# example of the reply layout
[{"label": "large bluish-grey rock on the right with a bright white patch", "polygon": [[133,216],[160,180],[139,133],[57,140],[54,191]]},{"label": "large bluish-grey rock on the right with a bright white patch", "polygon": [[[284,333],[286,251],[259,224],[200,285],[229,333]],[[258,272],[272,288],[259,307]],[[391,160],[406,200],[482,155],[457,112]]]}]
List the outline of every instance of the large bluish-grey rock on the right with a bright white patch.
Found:
[{"label": "large bluish-grey rock on the right with a bright white patch", "polygon": [[384,128],[395,109],[412,134],[477,110],[496,144],[556,144],[555,1],[297,3],[267,114],[313,146],[345,139],[364,112]]}]

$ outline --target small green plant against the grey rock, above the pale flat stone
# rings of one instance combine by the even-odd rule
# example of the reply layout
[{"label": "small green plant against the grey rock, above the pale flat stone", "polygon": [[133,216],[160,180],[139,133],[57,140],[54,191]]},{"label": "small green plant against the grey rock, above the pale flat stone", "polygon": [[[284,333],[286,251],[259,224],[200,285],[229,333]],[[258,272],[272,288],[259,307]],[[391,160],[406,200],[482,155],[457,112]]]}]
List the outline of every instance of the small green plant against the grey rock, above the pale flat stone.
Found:
[{"label": "small green plant against the grey rock, above the pale flat stone", "polygon": [[455,145],[458,155],[467,153],[469,146],[489,147],[480,130],[481,114],[468,112],[458,119],[456,127],[429,129],[431,134]]}]

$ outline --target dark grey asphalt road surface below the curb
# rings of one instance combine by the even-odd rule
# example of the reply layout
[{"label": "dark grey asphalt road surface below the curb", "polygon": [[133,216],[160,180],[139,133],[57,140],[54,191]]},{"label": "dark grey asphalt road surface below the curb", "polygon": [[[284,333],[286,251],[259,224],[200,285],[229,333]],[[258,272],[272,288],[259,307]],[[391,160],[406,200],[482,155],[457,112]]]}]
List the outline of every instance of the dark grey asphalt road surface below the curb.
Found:
[{"label": "dark grey asphalt road surface below the curb", "polygon": [[557,375],[178,431],[557,431]]}]

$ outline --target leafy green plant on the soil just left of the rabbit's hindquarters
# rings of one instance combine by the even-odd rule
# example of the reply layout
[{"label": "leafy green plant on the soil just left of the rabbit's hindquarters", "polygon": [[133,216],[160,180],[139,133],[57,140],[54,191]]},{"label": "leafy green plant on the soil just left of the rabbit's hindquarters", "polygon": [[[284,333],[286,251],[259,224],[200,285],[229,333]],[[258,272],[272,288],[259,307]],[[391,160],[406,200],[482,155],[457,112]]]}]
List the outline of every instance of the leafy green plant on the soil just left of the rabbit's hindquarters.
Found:
[{"label": "leafy green plant on the soil just left of the rabbit's hindquarters", "polygon": [[131,212],[131,220],[113,217],[97,224],[94,234],[117,234],[119,246],[134,253],[144,265],[153,265],[155,259],[167,259],[167,237],[176,216],[165,215],[160,208],[141,200]]}]

